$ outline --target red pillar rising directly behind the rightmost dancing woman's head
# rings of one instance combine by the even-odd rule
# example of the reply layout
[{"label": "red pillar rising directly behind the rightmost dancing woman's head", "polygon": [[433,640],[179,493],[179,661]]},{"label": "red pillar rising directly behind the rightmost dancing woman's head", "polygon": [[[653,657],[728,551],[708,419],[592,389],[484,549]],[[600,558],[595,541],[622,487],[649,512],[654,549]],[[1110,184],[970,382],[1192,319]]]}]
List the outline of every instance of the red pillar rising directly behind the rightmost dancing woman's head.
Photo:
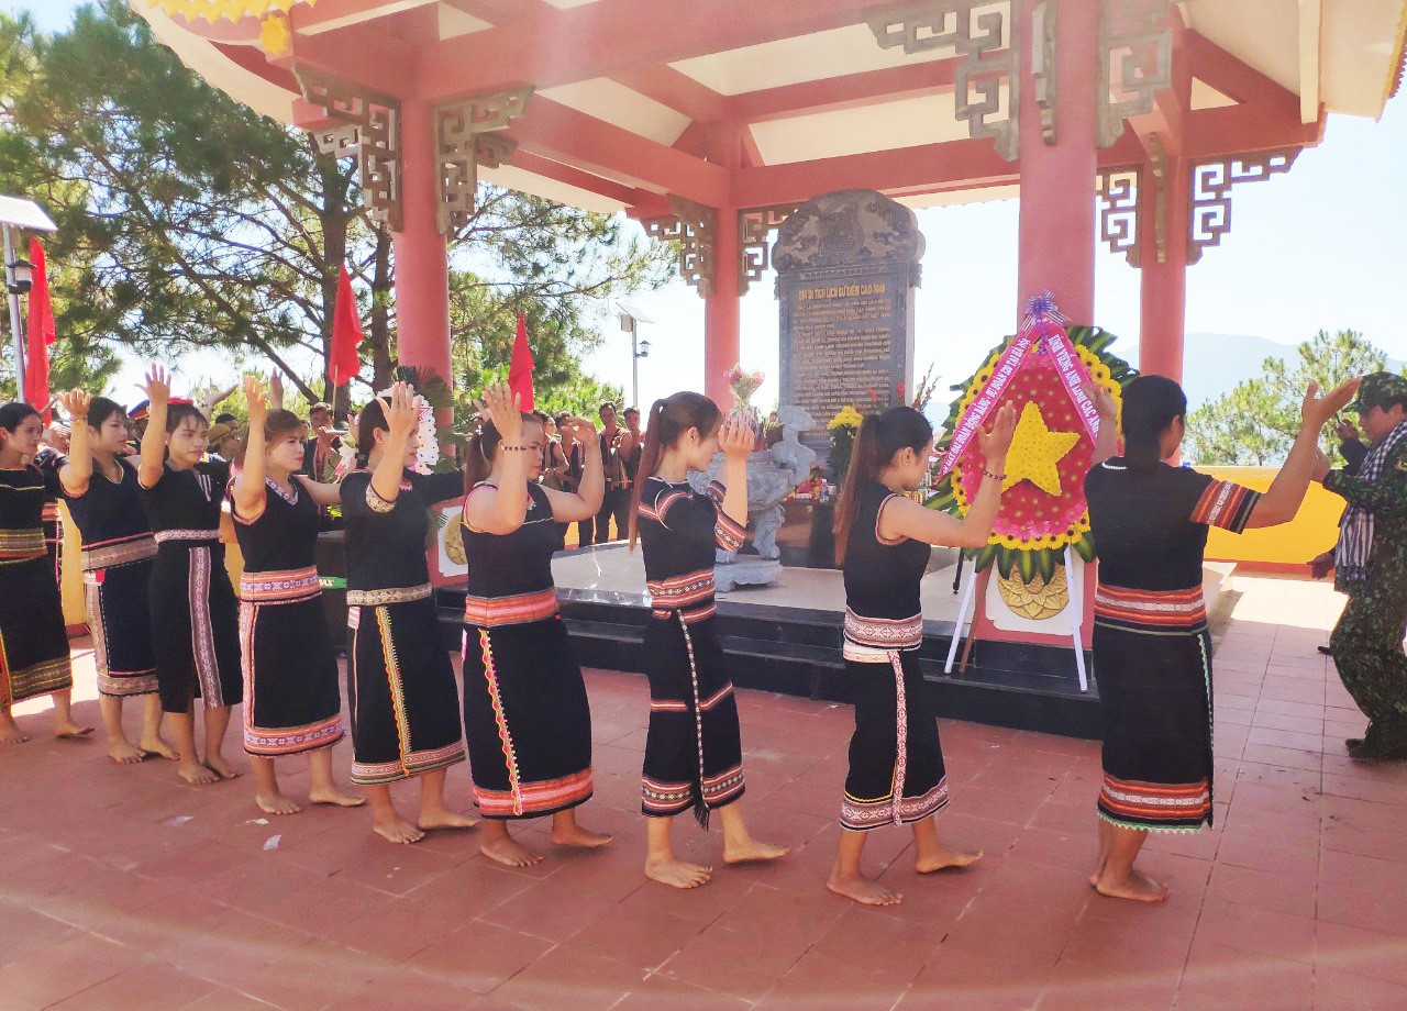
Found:
[{"label": "red pillar rising directly behind the rightmost dancing woman's head", "polygon": [[[1192,176],[1186,159],[1186,117],[1192,104],[1192,70],[1182,48],[1182,20],[1173,20],[1172,87],[1159,96],[1162,129],[1157,131],[1164,156],[1162,225],[1166,229],[1164,262],[1158,263],[1158,194],[1152,159],[1144,165],[1144,193],[1138,194],[1138,246],[1141,322],[1138,371],[1182,382],[1183,333],[1188,314],[1188,205]],[[1144,146],[1150,146],[1147,135]]]}]

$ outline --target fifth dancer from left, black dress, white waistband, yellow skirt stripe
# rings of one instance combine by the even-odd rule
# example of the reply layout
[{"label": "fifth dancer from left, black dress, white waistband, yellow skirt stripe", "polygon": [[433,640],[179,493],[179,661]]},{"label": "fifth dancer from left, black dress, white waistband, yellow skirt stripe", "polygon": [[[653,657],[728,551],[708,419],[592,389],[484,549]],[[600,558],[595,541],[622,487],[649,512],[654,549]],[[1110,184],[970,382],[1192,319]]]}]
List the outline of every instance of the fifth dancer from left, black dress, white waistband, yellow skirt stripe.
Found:
[{"label": "fifth dancer from left, black dress, white waistband, yellow skirt stripe", "polygon": [[[409,470],[418,427],[415,392],[397,382],[357,418],[357,451],[367,467],[342,481],[352,782],[367,787],[373,828],[391,842],[477,824],[445,806],[445,773],[464,761],[464,731],[425,560],[429,508],[459,498],[464,485],[459,472]],[[421,778],[414,825],[391,801],[391,783],[409,776]]]}]

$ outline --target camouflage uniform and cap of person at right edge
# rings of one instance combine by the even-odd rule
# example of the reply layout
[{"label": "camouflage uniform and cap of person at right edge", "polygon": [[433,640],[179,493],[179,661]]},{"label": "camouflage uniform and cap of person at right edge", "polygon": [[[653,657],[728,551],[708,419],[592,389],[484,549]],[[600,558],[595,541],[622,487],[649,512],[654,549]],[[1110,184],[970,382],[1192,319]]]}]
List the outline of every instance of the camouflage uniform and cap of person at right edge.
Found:
[{"label": "camouflage uniform and cap of person at right edge", "polygon": [[[1358,409],[1407,404],[1407,378],[1375,373],[1363,380]],[[1349,741],[1358,758],[1407,756],[1407,422],[1387,439],[1396,446],[1376,478],[1332,471],[1324,487],[1372,515],[1372,539],[1361,571],[1337,558],[1335,585],[1348,606],[1334,627],[1330,648],[1344,688],[1372,721],[1362,742]],[[1346,524],[1345,517],[1345,524]],[[1339,548],[1342,551],[1344,537]]]}]

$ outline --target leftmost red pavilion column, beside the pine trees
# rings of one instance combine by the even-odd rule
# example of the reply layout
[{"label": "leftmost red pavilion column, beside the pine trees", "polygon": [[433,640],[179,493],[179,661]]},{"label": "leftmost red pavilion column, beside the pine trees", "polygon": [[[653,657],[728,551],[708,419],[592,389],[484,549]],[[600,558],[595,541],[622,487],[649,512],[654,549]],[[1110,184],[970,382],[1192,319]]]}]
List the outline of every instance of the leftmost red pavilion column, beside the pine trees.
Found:
[{"label": "leftmost red pavilion column, beside the pine trees", "polygon": [[449,361],[449,255],[435,222],[435,122],[424,101],[401,105],[401,231],[395,255],[395,333],[402,366],[429,366],[453,385]]}]

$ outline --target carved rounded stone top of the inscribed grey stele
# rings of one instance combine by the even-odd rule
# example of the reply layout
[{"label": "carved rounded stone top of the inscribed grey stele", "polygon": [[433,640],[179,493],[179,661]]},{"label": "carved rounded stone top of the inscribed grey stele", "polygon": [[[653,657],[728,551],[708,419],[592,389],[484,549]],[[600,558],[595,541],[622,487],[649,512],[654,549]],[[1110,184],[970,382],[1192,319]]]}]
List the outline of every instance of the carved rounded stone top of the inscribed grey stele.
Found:
[{"label": "carved rounded stone top of the inscribed grey stele", "polygon": [[875,190],[812,197],[782,222],[772,266],[788,273],[813,267],[917,263],[919,218]]}]

